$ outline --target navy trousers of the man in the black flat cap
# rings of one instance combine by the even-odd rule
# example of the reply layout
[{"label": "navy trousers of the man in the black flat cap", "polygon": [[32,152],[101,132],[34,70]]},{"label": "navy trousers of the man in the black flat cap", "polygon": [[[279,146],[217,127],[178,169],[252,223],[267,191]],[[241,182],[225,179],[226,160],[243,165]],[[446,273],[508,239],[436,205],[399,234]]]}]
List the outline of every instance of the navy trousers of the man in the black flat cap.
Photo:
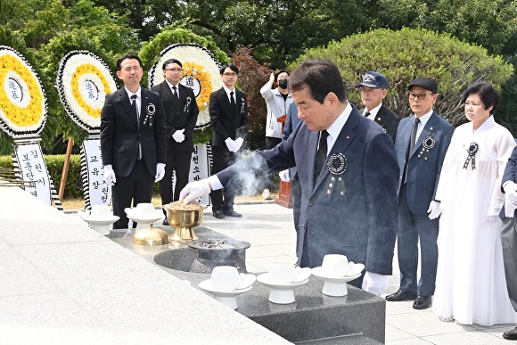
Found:
[{"label": "navy trousers of the man in the black flat cap", "polygon": [[[434,294],[436,268],[438,265],[439,218],[415,215],[407,207],[406,184],[398,194],[398,267],[400,290],[418,292],[420,296]],[[420,239],[421,275],[417,283],[418,241]]]}]

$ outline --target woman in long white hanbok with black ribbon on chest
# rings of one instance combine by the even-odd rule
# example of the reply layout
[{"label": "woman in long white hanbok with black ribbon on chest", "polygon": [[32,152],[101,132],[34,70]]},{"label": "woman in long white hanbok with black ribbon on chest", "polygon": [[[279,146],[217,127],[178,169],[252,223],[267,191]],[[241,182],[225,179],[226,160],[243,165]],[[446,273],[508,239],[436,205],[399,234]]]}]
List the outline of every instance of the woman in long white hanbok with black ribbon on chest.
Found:
[{"label": "woman in long white hanbok with black ribbon on chest", "polygon": [[455,129],[436,193],[442,218],[432,308],[442,321],[515,323],[499,238],[501,178],[515,142],[494,120],[499,95],[488,82],[469,87],[463,102],[469,122]]}]

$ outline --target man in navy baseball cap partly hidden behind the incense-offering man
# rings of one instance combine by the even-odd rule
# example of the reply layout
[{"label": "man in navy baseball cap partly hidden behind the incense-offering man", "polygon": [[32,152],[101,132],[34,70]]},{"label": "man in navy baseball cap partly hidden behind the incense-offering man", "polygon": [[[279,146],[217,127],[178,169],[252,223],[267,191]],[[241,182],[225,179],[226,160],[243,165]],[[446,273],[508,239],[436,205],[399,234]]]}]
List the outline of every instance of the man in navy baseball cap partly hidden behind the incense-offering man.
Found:
[{"label": "man in navy baseball cap partly hidden behind the incense-offering man", "polygon": [[379,124],[395,143],[400,119],[398,119],[397,114],[382,104],[382,100],[387,94],[388,79],[381,73],[370,71],[365,74],[363,82],[357,84],[356,88],[359,89],[361,101],[365,104],[365,109],[359,112]]}]

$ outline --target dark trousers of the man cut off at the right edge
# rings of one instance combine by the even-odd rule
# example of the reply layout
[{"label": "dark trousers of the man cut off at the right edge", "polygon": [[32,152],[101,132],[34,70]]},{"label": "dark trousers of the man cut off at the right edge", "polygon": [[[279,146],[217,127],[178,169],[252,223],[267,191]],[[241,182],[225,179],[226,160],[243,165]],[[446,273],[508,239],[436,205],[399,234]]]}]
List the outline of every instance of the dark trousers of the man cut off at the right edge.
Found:
[{"label": "dark trousers of the man cut off at the right edge", "polygon": [[501,244],[505,263],[506,288],[512,307],[517,311],[517,221],[515,218],[503,220]]}]

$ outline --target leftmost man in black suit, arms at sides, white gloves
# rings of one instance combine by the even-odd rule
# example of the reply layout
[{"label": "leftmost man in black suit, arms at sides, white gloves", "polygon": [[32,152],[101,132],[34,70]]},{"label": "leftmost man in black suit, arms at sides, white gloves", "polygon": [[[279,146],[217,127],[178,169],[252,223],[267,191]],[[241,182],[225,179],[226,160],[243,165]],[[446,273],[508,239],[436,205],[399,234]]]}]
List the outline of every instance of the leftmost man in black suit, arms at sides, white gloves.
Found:
[{"label": "leftmost man in black suit, arms at sides, white gloves", "polygon": [[106,95],[101,112],[103,177],[113,185],[113,228],[127,228],[124,209],[151,202],[154,182],[165,173],[167,159],[165,111],[160,96],[143,87],[138,55],[117,60],[117,77],[124,87]]}]

